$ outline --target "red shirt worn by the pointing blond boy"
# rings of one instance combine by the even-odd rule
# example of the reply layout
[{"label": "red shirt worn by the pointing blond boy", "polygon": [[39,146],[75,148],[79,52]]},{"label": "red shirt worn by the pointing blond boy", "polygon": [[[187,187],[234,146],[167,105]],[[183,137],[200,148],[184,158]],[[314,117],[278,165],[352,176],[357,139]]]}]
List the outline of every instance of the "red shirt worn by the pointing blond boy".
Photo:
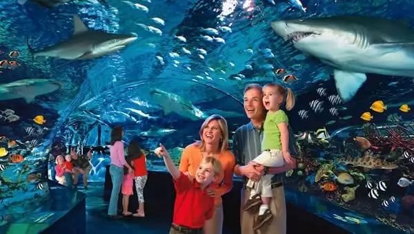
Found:
[{"label": "red shirt worn by the pointing blond boy", "polygon": [[199,183],[188,179],[180,171],[179,178],[174,180],[176,198],[172,222],[188,228],[202,228],[206,220],[214,213],[214,198],[210,197]]}]

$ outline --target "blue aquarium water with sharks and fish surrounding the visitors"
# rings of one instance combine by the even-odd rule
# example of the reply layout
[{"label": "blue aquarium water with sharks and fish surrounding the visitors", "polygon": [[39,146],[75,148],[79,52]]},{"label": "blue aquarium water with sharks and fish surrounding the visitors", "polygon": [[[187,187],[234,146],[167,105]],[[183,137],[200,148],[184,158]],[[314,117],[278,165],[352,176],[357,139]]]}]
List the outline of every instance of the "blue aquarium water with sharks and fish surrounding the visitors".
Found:
[{"label": "blue aquarium water with sharks and fish surrounding the visitors", "polygon": [[[70,147],[106,147],[121,125],[166,171],[159,142],[178,164],[211,114],[231,138],[248,123],[244,87],[273,82],[297,101],[288,197],[330,204],[310,209],[332,222],[414,231],[413,1],[50,2],[0,3],[0,225],[39,209]],[[109,162],[95,150],[89,180]]]}]

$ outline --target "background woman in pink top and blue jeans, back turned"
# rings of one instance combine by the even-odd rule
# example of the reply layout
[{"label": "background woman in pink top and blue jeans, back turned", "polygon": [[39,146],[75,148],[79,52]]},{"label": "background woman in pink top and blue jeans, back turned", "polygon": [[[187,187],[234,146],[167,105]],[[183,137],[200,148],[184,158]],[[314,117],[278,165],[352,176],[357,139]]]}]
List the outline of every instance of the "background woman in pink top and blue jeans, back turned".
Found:
[{"label": "background woman in pink top and blue jeans, back turned", "polygon": [[124,129],[122,127],[114,127],[110,133],[110,178],[112,180],[112,193],[110,193],[110,201],[108,215],[110,218],[119,219],[122,217],[117,214],[119,191],[121,190],[122,180],[124,179],[124,167],[128,168],[128,172],[132,173],[132,167],[125,160],[124,143],[121,141],[124,137]]}]

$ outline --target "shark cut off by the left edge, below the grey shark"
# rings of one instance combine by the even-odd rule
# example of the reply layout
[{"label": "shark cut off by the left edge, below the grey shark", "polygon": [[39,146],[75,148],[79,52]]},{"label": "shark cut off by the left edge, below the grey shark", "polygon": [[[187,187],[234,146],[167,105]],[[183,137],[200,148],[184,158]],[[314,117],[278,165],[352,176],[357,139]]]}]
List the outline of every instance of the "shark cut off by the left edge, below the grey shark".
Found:
[{"label": "shark cut off by the left edge, below the grey shark", "polygon": [[0,100],[24,98],[31,103],[36,96],[54,92],[64,84],[64,81],[36,78],[14,81],[0,85]]}]

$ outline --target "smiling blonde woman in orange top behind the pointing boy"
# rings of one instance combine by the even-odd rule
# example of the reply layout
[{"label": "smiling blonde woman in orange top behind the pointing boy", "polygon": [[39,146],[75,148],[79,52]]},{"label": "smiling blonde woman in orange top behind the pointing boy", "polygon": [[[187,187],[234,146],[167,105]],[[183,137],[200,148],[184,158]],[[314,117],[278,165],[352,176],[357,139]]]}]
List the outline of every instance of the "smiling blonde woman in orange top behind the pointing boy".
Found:
[{"label": "smiling blonde woman in orange top behind the pointing boy", "polygon": [[203,157],[215,157],[221,162],[223,171],[215,181],[215,188],[218,189],[208,190],[208,194],[215,197],[215,211],[213,218],[204,225],[204,233],[221,234],[223,227],[221,195],[228,193],[233,187],[235,156],[228,150],[227,123],[220,115],[215,114],[206,118],[199,134],[201,141],[188,145],[181,154],[179,170],[194,176]]}]

